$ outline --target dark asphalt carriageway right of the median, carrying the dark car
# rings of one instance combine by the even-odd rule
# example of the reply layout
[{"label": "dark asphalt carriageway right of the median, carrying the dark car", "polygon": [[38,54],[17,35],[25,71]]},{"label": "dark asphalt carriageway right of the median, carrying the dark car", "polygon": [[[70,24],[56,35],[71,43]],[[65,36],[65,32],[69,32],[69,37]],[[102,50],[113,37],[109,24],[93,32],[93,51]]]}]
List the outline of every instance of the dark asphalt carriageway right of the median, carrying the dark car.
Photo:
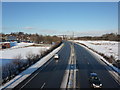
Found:
[{"label": "dark asphalt carriageway right of the median, carrying the dark car", "polygon": [[96,72],[101,79],[103,88],[120,88],[120,85],[114,80],[113,76],[106,69],[106,65],[101,63],[97,57],[80,45],[75,44],[75,53],[77,61],[77,82],[80,88],[90,88],[89,74]]}]

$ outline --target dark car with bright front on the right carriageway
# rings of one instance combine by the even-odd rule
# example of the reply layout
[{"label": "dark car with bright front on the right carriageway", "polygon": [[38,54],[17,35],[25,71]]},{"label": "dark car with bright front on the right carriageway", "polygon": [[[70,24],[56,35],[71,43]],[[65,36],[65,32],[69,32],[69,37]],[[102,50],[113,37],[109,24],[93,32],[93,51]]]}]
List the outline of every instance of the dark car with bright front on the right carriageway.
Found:
[{"label": "dark car with bright front on the right carriageway", "polygon": [[100,82],[100,79],[96,73],[90,73],[90,85],[92,88],[101,88],[102,84]]}]

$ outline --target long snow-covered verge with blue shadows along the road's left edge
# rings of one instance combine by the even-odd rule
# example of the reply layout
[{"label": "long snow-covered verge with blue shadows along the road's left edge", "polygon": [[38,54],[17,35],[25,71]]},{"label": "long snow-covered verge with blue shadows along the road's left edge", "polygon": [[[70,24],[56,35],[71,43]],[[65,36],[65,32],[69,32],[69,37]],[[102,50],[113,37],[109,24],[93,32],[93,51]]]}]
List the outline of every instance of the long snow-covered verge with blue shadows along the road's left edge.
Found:
[{"label": "long snow-covered verge with blue shadows along the road's left edge", "polygon": [[33,72],[35,72],[38,68],[40,68],[43,64],[45,64],[51,57],[53,57],[62,47],[64,44],[53,50],[51,53],[43,57],[41,60],[39,60],[34,65],[30,66],[28,69],[17,75],[15,78],[10,80],[8,83],[4,84],[0,87],[0,89],[4,88],[14,88],[17,86],[20,82],[22,82],[24,79],[26,79],[28,76],[30,76]]}]

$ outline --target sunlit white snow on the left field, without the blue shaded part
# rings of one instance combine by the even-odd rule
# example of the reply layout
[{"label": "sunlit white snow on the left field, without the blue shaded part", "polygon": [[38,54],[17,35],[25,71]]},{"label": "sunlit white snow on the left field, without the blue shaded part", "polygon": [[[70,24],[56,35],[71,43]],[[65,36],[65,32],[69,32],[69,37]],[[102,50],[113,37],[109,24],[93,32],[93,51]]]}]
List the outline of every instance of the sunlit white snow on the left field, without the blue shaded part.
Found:
[{"label": "sunlit white snow on the left field, without the blue shaded part", "polygon": [[25,47],[25,48],[18,48],[12,50],[4,50],[2,52],[2,59],[14,59],[15,56],[21,55],[23,59],[26,59],[26,55],[30,53],[39,54],[41,51],[45,51],[50,47]]}]

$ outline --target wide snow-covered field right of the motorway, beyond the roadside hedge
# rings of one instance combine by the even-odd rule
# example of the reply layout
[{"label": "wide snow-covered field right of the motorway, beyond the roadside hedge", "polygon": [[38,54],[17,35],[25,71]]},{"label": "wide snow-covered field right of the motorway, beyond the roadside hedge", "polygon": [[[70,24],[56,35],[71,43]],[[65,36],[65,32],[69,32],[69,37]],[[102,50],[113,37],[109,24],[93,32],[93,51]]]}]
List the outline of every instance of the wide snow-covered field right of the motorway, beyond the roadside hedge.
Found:
[{"label": "wide snow-covered field right of the motorway, beyond the roadside hedge", "polygon": [[113,56],[115,60],[119,59],[118,43],[115,41],[81,41],[75,40],[75,42],[83,43],[88,47],[94,49],[99,53],[103,53],[106,56]]}]

